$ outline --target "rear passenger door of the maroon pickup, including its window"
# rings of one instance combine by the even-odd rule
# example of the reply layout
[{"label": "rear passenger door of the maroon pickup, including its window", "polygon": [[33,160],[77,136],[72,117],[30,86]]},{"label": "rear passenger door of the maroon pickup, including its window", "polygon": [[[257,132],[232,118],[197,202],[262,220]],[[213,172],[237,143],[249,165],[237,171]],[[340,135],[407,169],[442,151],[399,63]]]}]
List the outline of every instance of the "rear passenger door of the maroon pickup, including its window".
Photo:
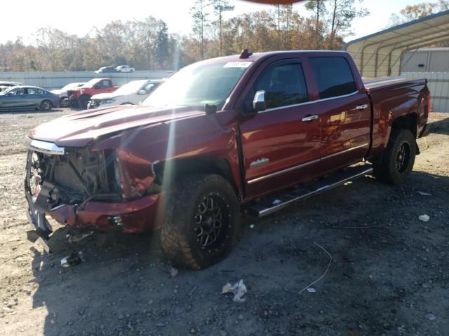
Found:
[{"label": "rear passenger door of the maroon pickup, including its window", "polygon": [[[321,171],[360,161],[370,144],[370,102],[346,57],[309,57],[319,99]],[[356,79],[358,78],[358,80]]]}]

